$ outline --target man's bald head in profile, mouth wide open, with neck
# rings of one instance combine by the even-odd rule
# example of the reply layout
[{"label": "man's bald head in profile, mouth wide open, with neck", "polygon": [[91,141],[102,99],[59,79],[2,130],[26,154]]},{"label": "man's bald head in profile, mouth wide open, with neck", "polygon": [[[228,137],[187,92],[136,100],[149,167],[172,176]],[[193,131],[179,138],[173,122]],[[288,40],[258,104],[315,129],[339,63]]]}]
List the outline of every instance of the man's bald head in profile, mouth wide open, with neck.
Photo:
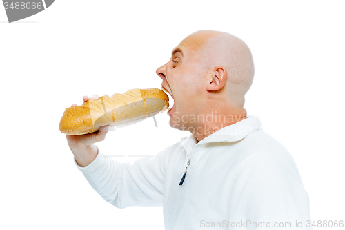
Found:
[{"label": "man's bald head in profile, mouth wide open, with neck", "polygon": [[175,102],[168,112],[172,128],[195,134],[206,123],[218,128],[235,123],[206,122],[201,115],[246,117],[244,95],[253,82],[253,57],[244,41],[234,35],[213,30],[194,32],[172,50],[170,61],[156,73]]}]

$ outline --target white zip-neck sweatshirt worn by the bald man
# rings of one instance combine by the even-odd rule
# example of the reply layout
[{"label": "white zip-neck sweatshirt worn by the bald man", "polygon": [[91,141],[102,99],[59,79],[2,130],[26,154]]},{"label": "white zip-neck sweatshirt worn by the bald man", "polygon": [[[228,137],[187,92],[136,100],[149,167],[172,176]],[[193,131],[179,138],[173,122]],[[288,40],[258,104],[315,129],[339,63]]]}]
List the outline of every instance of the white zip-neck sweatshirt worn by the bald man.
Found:
[{"label": "white zip-neck sweatshirt worn by the bald man", "polygon": [[88,166],[75,165],[115,207],[163,205],[165,229],[312,229],[293,157],[260,127],[258,117],[248,116],[198,143],[194,135],[183,137],[134,164],[99,150]]}]

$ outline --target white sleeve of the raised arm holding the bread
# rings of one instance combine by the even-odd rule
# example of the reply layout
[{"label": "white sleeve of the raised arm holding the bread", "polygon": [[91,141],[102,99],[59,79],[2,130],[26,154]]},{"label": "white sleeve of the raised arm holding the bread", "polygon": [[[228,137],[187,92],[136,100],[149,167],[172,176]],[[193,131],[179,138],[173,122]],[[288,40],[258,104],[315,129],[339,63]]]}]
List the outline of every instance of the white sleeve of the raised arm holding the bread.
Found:
[{"label": "white sleeve of the raised arm holding the bread", "polygon": [[134,163],[117,162],[104,155],[99,148],[95,160],[77,168],[101,197],[117,208],[128,206],[161,206],[165,166],[164,153],[143,157]]}]

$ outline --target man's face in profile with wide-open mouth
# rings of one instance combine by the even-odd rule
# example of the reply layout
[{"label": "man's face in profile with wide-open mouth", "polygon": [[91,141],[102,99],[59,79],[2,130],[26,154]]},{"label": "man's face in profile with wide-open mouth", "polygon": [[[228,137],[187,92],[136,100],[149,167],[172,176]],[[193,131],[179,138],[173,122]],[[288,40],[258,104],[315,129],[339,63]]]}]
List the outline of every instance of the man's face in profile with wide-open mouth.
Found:
[{"label": "man's face in profile with wide-open mouth", "polygon": [[201,64],[199,52],[191,48],[193,37],[187,37],[172,50],[171,59],[156,70],[163,80],[161,86],[174,99],[174,106],[168,111],[170,126],[186,130],[190,125],[190,115],[199,113],[200,96],[203,92],[203,77],[206,68]]}]

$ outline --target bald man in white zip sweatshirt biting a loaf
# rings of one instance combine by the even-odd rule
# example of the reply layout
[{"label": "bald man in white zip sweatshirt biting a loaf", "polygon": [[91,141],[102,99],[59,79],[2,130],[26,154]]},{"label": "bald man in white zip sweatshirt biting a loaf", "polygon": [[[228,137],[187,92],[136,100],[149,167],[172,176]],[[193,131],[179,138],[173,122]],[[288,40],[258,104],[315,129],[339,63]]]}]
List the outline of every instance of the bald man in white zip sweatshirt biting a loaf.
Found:
[{"label": "bald man in white zip sweatshirt biting a loaf", "polygon": [[156,73],[175,102],[170,126],[191,135],[132,165],[95,146],[108,126],[67,135],[92,188],[119,208],[163,205],[166,229],[307,229],[308,194],[293,158],[244,109],[254,75],[244,41],[195,32]]}]

